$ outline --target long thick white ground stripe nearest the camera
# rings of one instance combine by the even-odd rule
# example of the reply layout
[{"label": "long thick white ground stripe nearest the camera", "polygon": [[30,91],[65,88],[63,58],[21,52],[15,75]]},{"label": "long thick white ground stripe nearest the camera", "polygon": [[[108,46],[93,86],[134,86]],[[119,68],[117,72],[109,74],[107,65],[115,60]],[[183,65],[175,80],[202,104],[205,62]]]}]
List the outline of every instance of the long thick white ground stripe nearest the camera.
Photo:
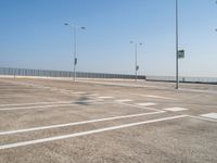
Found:
[{"label": "long thick white ground stripe nearest the camera", "polygon": [[29,145],[36,145],[36,143],[41,143],[41,142],[49,142],[49,141],[54,141],[54,140],[75,138],[75,137],[80,137],[80,136],[99,134],[99,133],[104,133],[104,131],[110,131],[110,130],[117,130],[117,129],[123,129],[123,128],[127,128],[127,127],[135,127],[135,126],[139,126],[139,125],[157,123],[157,122],[176,120],[176,118],[182,118],[182,117],[187,117],[187,115],[169,116],[169,117],[164,117],[164,118],[156,118],[156,120],[125,124],[125,125],[119,125],[119,126],[100,128],[100,129],[94,129],[94,130],[75,133],[75,134],[71,134],[71,135],[63,135],[63,136],[56,136],[56,137],[50,137],[50,138],[43,138],[43,139],[37,139],[37,140],[16,142],[16,143],[8,143],[8,145],[0,146],[0,150],[17,148],[17,147],[23,147],[23,146],[29,146]]}]

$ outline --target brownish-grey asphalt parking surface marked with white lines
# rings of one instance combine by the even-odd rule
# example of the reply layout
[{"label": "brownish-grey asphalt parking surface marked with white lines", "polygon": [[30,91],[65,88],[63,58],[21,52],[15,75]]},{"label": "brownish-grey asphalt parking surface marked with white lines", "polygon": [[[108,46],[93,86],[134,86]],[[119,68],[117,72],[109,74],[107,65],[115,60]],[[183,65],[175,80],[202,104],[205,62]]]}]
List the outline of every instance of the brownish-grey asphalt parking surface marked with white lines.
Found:
[{"label": "brownish-grey asphalt parking surface marked with white lines", "polygon": [[216,163],[217,89],[0,78],[0,163]]}]

